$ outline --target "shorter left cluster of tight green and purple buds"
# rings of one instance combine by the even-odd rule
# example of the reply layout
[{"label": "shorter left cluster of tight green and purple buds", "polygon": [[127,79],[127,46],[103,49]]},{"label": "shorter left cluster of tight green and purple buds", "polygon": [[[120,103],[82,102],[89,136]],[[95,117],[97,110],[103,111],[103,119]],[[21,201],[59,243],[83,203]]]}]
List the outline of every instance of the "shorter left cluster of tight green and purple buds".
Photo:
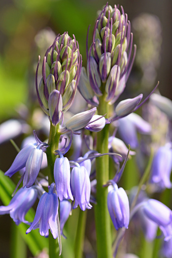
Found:
[{"label": "shorter left cluster of tight green and purple buds", "polygon": [[43,77],[39,86],[38,63],[37,96],[41,108],[50,117],[53,125],[60,122],[63,113],[73,103],[80,79],[81,65],[78,42],[75,36],[72,40],[66,32],[57,35],[54,43],[48,48],[43,61]]}]

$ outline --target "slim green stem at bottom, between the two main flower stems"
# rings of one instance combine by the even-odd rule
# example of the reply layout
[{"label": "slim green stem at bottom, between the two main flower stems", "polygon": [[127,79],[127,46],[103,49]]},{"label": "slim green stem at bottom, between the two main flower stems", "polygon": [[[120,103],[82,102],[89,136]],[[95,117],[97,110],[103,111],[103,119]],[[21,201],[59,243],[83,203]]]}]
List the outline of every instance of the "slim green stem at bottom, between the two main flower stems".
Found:
[{"label": "slim green stem at bottom, between the two main flower stems", "polygon": [[77,226],[77,235],[75,240],[75,258],[83,257],[86,218],[87,218],[87,210],[82,211],[80,209],[78,226]]}]

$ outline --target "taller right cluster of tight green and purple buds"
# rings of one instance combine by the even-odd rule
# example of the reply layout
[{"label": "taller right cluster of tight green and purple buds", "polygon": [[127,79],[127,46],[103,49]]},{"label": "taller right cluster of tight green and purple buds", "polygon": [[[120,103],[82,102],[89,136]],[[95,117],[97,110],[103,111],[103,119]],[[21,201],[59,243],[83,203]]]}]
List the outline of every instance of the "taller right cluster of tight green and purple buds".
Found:
[{"label": "taller right cluster of tight green and purple buds", "polygon": [[[87,71],[82,67],[79,90],[90,104],[106,93],[106,101],[114,103],[125,89],[133,60],[132,33],[127,14],[121,7],[108,4],[98,16],[93,32],[93,42],[87,50]],[[88,38],[88,36],[87,36]],[[88,39],[87,39],[88,41]]]}]

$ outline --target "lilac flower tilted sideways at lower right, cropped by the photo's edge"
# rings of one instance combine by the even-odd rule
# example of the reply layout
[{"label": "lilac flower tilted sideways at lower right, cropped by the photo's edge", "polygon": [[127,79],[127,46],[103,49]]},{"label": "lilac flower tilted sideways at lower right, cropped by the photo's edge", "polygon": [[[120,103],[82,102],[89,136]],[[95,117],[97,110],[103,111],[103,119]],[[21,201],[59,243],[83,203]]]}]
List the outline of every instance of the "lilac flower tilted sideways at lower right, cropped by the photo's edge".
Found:
[{"label": "lilac flower tilted sideways at lower right, cropped by the photo's edge", "polygon": [[155,199],[143,202],[142,209],[144,214],[159,226],[164,240],[168,241],[172,237],[172,211]]}]

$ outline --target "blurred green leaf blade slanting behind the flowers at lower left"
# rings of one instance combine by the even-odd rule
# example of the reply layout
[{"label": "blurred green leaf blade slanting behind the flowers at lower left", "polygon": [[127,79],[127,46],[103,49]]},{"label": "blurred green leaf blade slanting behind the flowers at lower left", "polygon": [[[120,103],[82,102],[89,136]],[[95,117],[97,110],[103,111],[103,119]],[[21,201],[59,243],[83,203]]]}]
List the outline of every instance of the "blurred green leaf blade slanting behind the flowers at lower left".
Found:
[{"label": "blurred green leaf blade slanting behind the flowers at lower left", "polygon": [[[15,189],[15,184],[13,181],[4,175],[4,172],[0,170],[0,198],[4,205],[8,205],[11,200],[11,195]],[[29,222],[33,221],[35,217],[35,211],[31,208],[26,214],[26,220]],[[28,229],[28,225],[21,223],[18,228],[20,233],[28,245],[31,253],[36,255],[38,252],[42,251],[43,248],[48,248],[48,239],[42,237],[38,230],[31,231],[28,235],[26,235],[26,230]]]}]

